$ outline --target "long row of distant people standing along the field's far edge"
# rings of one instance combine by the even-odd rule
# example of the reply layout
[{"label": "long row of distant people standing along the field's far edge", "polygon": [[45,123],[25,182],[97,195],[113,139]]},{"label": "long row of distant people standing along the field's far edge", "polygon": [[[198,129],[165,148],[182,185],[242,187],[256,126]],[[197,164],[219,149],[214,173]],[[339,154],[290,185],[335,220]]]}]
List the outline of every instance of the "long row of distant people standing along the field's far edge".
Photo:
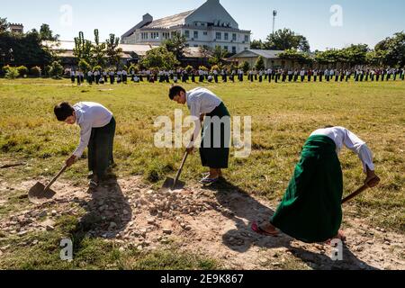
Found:
[{"label": "long row of distant people standing along the field's far edge", "polygon": [[[130,81],[139,82],[159,82],[159,83],[187,83],[191,81],[196,83],[197,81],[203,83],[205,81],[209,83],[219,83],[221,82],[243,82],[245,73],[242,69],[234,69],[228,71],[223,70],[192,70],[186,71],[184,69],[177,70],[142,70],[134,71],[131,70],[128,73],[126,70],[119,71],[88,71],[86,74],[82,71],[71,71],[72,83],[77,83],[77,85],[83,84],[85,81],[90,84],[104,84],[110,82],[111,85],[117,84],[127,84]],[[405,80],[405,69],[272,69],[267,70],[250,70],[247,72],[247,81],[250,82],[304,82],[304,81],[314,81],[314,82],[348,82],[354,79],[356,82],[363,81],[396,81]]]}]

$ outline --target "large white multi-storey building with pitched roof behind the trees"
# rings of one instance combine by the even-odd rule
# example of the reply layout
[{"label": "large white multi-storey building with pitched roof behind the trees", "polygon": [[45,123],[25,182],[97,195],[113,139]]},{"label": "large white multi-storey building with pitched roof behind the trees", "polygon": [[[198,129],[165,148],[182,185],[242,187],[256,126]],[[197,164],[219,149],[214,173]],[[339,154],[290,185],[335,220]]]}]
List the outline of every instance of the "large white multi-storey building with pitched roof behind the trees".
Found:
[{"label": "large white multi-storey building with pitched roof behind the trees", "polygon": [[179,32],[189,47],[220,46],[236,54],[250,48],[250,31],[240,30],[238,26],[220,0],[207,0],[193,11],[158,20],[145,14],[139,24],[121,36],[121,43],[160,45]]}]

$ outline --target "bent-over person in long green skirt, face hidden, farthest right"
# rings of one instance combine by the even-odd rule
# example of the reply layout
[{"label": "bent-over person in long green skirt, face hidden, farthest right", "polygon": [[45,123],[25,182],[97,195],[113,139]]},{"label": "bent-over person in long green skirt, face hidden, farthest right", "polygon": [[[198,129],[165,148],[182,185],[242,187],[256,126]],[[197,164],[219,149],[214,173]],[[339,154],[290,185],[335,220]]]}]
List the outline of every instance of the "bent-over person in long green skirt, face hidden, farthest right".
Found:
[{"label": "bent-over person in long green skirt, face hidden, farthest right", "polygon": [[338,158],[344,146],[360,157],[365,185],[379,184],[373,155],[365,141],[344,127],[315,130],[302,148],[301,160],[275,214],[263,225],[254,222],[252,229],[266,236],[276,236],[280,229],[305,243],[326,242],[332,238],[344,241],[346,237],[340,230],[343,174]]}]

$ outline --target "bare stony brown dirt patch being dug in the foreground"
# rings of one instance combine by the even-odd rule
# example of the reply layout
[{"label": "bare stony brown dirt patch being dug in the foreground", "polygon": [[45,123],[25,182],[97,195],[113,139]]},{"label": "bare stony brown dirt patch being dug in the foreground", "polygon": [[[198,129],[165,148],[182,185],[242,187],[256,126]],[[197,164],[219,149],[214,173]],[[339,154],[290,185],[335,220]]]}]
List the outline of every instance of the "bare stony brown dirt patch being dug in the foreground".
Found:
[{"label": "bare stony brown dirt patch being dug in the foreground", "polygon": [[[18,189],[28,191],[36,182]],[[259,236],[250,224],[267,219],[275,205],[230,184],[167,193],[132,177],[112,180],[94,193],[67,183],[53,189],[58,193],[53,200],[1,220],[0,229],[23,236],[53,229],[63,215],[76,215],[78,229],[86,235],[109,239],[123,249],[155,249],[175,241],[182,249],[220,259],[229,269],[405,269],[404,235],[370,227],[361,219],[345,221],[343,261],[331,260],[333,247],[328,245],[304,244],[283,234]]]}]

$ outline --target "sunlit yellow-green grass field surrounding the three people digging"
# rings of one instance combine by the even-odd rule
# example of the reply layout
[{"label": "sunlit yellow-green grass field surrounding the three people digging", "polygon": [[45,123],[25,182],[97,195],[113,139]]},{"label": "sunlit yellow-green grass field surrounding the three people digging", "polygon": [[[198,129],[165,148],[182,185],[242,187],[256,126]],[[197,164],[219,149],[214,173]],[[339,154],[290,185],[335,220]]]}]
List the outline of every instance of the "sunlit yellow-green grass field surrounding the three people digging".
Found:
[{"label": "sunlit yellow-green grass field surrounding the three people digging", "polygon": [[[184,88],[195,86],[187,84]],[[345,126],[356,132],[372,149],[376,172],[382,178],[379,187],[349,204],[350,213],[361,215],[367,222],[384,229],[401,234],[405,232],[405,82],[245,82],[203,86],[223,99],[231,115],[253,117],[252,154],[246,159],[231,157],[229,170],[226,171],[230,183],[276,204],[290,180],[302,144],[311,131],[329,124]],[[54,175],[76,148],[79,130],[56,121],[53,106],[61,101],[94,101],[108,107],[117,121],[114,148],[118,165],[116,174],[121,177],[142,175],[145,182],[158,187],[166,175],[175,173],[184,151],[155,148],[153,139],[157,129],[154,121],[161,115],[173,119],[174,109],[178,108],[188,115],[186,107],[169,101],[168,87],[162,84],[78,87],[70,85],[68,80],[0,79],[0,161],[28,163],[21,168],[1,170],[0,177],[7,183],[19,183],[38,176]],[[347,149],[340,159],[345,191],[353,192],[365,178],[361,163]],[[183,178],[188,183],[195,183],[202,172],[205,171],[198,154],[195,154],[187,163]],[[82,160],[62,178],[75,184],[85,184],[85,175],[86,161]],[[0,220],[22,209],[26,201],[20,200],[18,195],[1,197],[8,197],[8,202],[0,205]],[[9,240],[4,239],[4,243]],[[18,247],[15,251],[18,252]],[[125,262],[132,257],[137,259],[136,265],[117,264],[112,268],[153,268],[156,265],[153,259],[158,257],[148,256],[146,259],[136,252],[120,256],[113,247],[107,247],[105,251],[108,251],[105,258],[94,260],[94,266],[88,265],[83,256],[84,264],[76,263],[76,267],[105,268],[106,258],[116,257],[122,263],[120,261]],[[82,252],[85,254],[85,247]],[[157,253],[168,259],[168,267],[215,268],[214,260],[197,256],[170,259],[173,256],[169,252]],[[38,264],[49,267],[46,263],[51,260],[45,257],[42,262],[38,259],[36,263],[24,265],[18,265],[21,259],[3,261],[6,261],[0,261],[3,268],[11,263],[14,263],[11,267],[32,268]]]}]

